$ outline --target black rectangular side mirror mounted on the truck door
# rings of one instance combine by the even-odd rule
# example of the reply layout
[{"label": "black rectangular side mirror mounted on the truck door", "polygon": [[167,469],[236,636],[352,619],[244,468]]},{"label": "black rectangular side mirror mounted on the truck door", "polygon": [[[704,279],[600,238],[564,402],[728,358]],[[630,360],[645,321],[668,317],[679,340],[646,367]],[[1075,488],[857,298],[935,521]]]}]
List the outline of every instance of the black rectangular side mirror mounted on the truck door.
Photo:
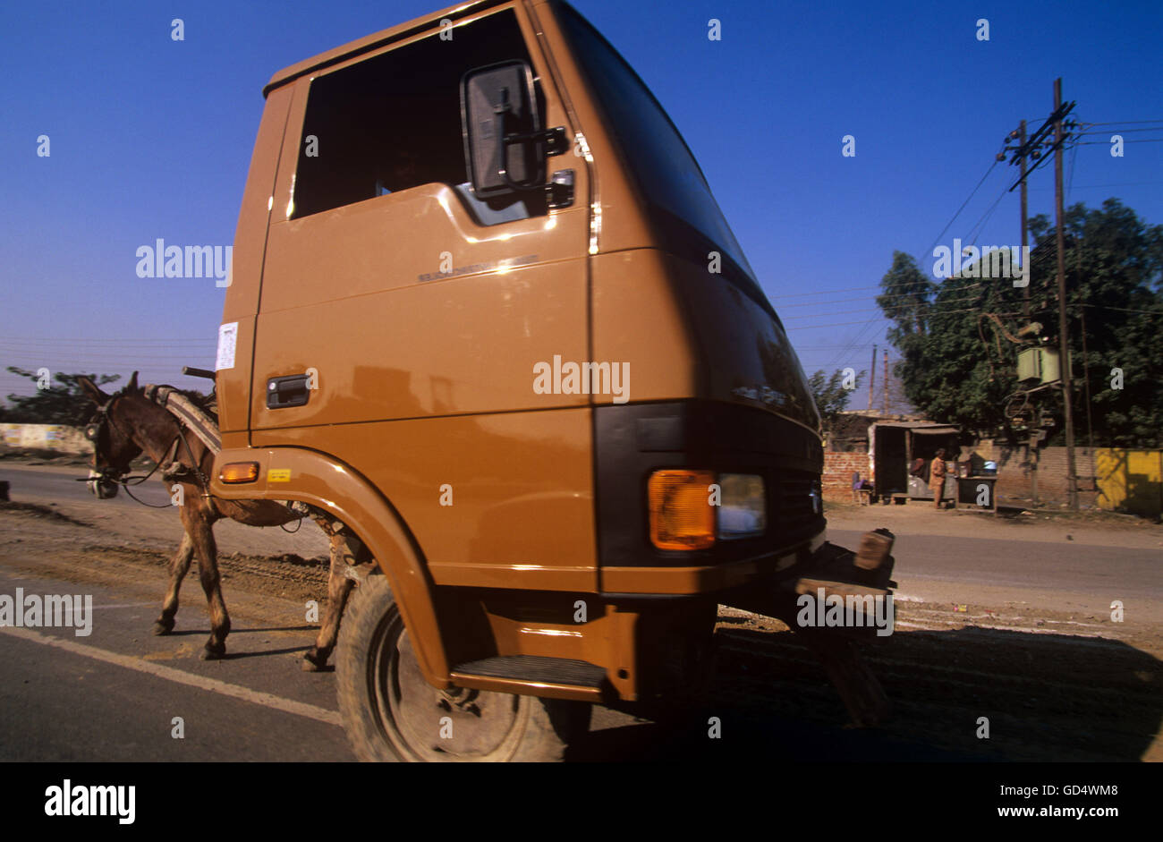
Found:
[{"label": "black rectangular side mirror mounted on the truck door", "polygon": [[464,163],[472,192],[486,199],[545,184],[547,143],[533,72],[525,62],[470,70],[461,79]]}]

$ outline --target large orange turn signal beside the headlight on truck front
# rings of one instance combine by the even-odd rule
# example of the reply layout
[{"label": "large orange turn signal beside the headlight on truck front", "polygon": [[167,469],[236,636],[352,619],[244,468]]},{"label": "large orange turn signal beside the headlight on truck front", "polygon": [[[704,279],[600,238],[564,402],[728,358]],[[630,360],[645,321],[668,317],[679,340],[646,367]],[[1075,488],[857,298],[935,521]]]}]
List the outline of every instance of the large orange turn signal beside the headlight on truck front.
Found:
[{"label": "large orange turn signal beside the headlight on truck front", "polygon": [[650,541],[659,550],[704,550],[715,542],[713,471],[666,470],[650,474]]}]

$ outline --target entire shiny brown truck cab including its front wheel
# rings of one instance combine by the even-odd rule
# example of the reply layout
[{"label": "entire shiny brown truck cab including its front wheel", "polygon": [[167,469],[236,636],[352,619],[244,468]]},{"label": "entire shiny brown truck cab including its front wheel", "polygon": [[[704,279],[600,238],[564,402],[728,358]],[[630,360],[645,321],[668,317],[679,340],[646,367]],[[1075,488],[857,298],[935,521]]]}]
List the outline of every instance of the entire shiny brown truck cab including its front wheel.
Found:
[{"label": "entire shiny brown truck cab including its front wheel", "polygon": [[578,702],[690,688],[716,606],[823,543],[822,449],[666,113],[556,0],[264,94],[212,491],[327,512],[374,559],[337,654],[359,755],[552,756]]}]

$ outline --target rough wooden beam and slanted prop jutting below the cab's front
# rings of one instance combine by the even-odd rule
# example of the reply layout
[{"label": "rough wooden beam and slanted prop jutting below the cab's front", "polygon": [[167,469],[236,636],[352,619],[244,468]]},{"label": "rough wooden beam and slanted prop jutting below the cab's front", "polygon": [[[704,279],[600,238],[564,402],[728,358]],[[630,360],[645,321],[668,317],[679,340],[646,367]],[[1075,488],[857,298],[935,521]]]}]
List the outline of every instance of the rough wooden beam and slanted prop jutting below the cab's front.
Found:
[{"label": "rough wooden beam and slanted prop jutting below the cab's front", "polygon": [[859,551],[826,542],[814,554],[786,571],[784,578],[766,588],[754,584],[732,592],[723,602],[756,614],[777,618],[800,635],[805,645],[823,664],[848,709],[851,723],[866,728],[884,722],[889,716],[889,697],[869,669],[858,648],[858,637],[880,640],[872,625],[857,627],[805,626],[798,621],[805,594],[825,599],[866,597],[892,598],[891,580],[896,559],[891,555],[894,536],[887,529],[865,533]]}]

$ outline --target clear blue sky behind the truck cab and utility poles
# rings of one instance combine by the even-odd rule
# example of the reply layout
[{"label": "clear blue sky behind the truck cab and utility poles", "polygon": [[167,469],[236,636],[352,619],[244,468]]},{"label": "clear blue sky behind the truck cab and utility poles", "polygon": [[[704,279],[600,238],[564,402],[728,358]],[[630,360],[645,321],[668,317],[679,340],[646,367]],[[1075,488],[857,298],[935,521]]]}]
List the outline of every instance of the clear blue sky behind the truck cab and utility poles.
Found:
[{"label": "clear blue sky behind the truck cab and utility poles", "polygon": [[[1083,121],[1163,119],[1157,0],[575,5],[685,136],[808,372],[868,368],[872,343],[884,347],[873,298],[893,250],[932,265],[1004,136],[1051,110],[1055,77]],[[272,73],[433,10],[431,0],[3,5],[0,369],[141,369],[144,380],[202,385],[178,372],[213,368],[223,291],[138,278],[136,249],[159,237],[229,244]],[[174,17],[183,42],[170,37]],[[707,38],[712,17],[720,42]],[[1118,197],[1163,223],[1163,144],[1127,144],[1121,158],[1086,145],[1065,163],[1068,205]],[[987,213],[1014,177],[996,166],[937,244],[983,216],[972,242],[1016,243],[1016,191]],[[1053,214],[1051,179],[1053,167],[1032,177],[1032,215]],[[0,372],[0,395],[13,391],[27,381]]]}]

